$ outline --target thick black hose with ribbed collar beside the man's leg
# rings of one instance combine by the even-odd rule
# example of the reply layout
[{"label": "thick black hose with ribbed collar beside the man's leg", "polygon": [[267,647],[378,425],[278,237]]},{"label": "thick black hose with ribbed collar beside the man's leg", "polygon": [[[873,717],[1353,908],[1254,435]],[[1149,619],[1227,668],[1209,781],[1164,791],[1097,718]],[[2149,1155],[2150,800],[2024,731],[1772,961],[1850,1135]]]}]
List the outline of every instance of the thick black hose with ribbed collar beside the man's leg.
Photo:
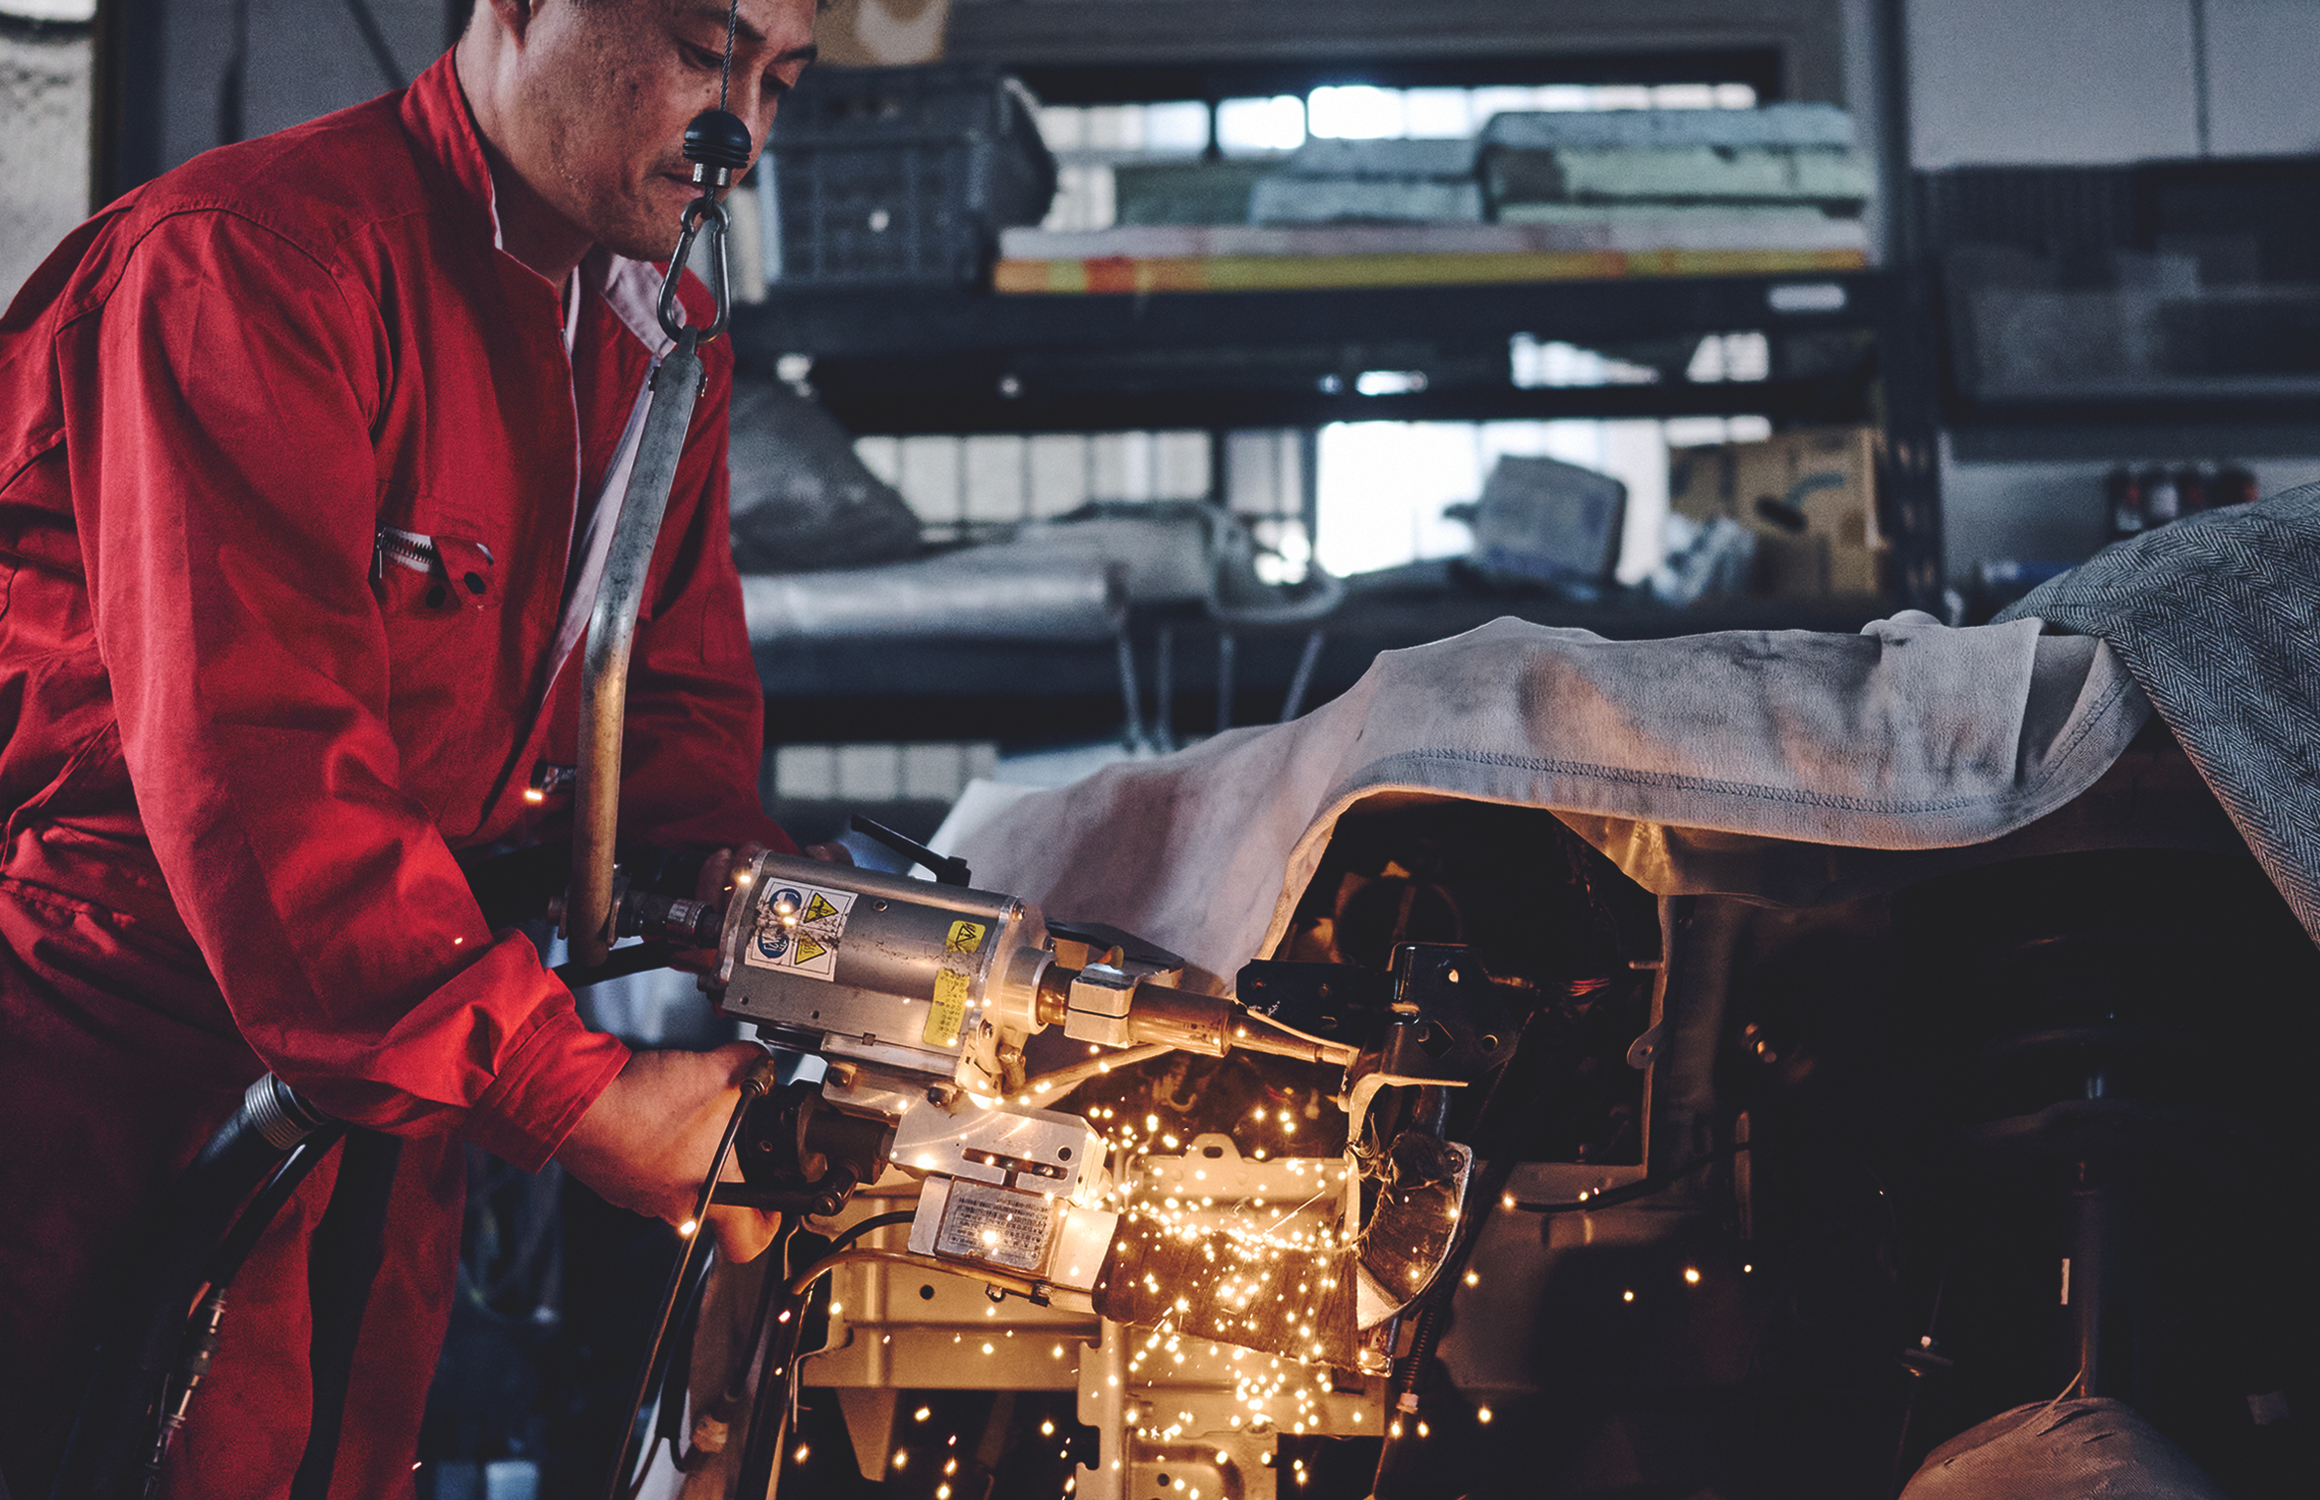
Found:
[{"label": "thick black hose with ribbed collar beside the man's leg", "polygon": [[[51,1500],[125,1500],[142,1493],[142,1468],[153,1451],[162,1391],[179,1366],[195,1294],[209,1280],[220,1243],[241,1238],[232,1233],[241,1203],[325,1122],[290,1085],[260,1078],[162,1194],[130,1240],[146,1247],[144,1273],[97,1342]],[[271,1208],[281,1208],[281,1199],[288,1192],[274,1196]],[[251,1243],[258,1229],[262,1224],[251,1229]]]}]

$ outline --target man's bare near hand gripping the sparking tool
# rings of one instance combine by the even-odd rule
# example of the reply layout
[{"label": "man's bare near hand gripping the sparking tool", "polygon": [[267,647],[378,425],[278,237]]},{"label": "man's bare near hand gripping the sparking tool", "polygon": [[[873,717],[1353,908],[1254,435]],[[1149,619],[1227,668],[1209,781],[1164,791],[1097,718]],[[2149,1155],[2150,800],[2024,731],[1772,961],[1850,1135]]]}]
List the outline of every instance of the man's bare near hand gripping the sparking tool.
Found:
[{"label": "man's bare near hand gripping the sparking tool", "polygon": [[[747,1041],[715,1053],[636,1053],[580,1115],[557,1162],[606,1201],[670,1224],[694,1217],[701,1178],[740,1104],[740,1083],[766,1055]],[[722,1180],[740,1182],[726,1157]],[[754,1261],[773,1243],[782,1215],[761,1208],[712,1208],[717,1254]]]}]

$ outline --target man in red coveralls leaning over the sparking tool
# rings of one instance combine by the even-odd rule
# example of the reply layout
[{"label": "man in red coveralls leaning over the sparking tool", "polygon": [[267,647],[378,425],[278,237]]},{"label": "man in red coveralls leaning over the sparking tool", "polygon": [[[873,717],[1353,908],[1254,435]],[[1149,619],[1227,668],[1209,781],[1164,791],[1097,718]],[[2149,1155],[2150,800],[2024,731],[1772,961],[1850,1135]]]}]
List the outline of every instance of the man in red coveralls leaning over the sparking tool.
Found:
[{"label": "man in red coveralls leaning over the sparking tool", "polygon": [[[756,141],[812,0],[740,0]],[[478,0],[408,90],[202,155],[0,322],[0,1474],[42,1495],[139,1213],[278,1073],[406,1141],[332,1495],[411,1491],[462,1145],[668,1219],[749,1048],[587,1032],[452,851],[564,837],[585,631],[668,348],[724,0]],[[687,313],[708,297],[687,287]],[[624,835],[789,842],[726,545],[731,357],[654,552]],[[234,1282],[172,1495],[288,1491],[325,1162]],[[761,1215],[719,1210],[754,1254]]]}]

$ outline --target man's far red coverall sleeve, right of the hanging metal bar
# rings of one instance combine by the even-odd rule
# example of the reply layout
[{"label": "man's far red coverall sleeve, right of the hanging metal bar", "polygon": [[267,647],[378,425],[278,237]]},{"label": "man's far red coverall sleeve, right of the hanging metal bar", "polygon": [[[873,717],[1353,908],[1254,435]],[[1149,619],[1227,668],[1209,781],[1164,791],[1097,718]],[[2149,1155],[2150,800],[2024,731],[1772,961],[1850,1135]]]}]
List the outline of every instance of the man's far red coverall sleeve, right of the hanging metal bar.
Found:
[{"label": "man's far red coverall sleeve, right of the hanging metal bar", "polygon": [[666,846],[796,844],[766,816],[759,760],[766,689],[749,654],[733,568],[726,417],[733,366],[722,345],[694,413],[661,538],[666,573],[638,628],[622,749],[622,828]]}]

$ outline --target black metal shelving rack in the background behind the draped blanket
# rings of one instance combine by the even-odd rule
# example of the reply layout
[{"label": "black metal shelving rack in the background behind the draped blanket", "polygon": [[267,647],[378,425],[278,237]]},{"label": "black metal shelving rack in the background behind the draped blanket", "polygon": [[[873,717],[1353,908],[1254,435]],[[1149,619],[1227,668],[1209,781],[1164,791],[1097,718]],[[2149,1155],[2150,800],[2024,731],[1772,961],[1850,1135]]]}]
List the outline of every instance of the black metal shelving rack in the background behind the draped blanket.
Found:
[{"label": "black metal shelving rack in the background behind the draped blanket", "polygon": [[[1239,81],[1237,81],[1239,83]],[[1044,93],[1060,88],[1039,77]],[[1088,97],[1123,97],[1102,79]],[[1770,93],[1770,77],[1766,79]],[[1076,97],[1076,95],[1070,95]],[[1162,97],[1146,93],[1144,97]],[[1362,420],[1564,420],[1766,415],[1775,427],[1877,424],[1886,434],[1882,531],[1893,545],[1884,600],[1747,600],[1705,610],[1578,605],[1545,594],[1476,594],[1422,580],[1355,587],[1325,624],[1306,705],[1380,649],[1420,645],[1499,614],[1615,638],[1712,628],[1858,628],[1902,605],[1940,607],[1935,466],[1940,345],[1928,278],[1884,269],[1397,285],[1248,292],[1002,294],[984,287],[782,287],[735,313],[745,369],[773,376],[812,357],[812,385],[854,434],[1097,434],[1199,429],[1223,450],[1237,429]],[[1766,380],[1684,378],[1710,334],[1763,332]],[[1517,336],[1566,341],[1661,371],[1631,385],[1517,385]],[[1362,371],[1422,380],[1360,394]],[[1311,457],[1311,445],[1308,445]],[[1220,466],[1211,466],[1223,489]],[[1311,464],[1306,464],[1311,489]],[[1155,663],[1172,635],[1179,728],[1204,730],[1220,677],[1223,719],[1271,721],[1311,626],[1232,631],[1190,614],[1132,621]],[[1007,661],[1007,670],[993,670]],[[1097,737],[1123,721],[1116,642],[817,642],[759,651],[777,742]],[[998,684],[1014,684],[993,691]]]}]

